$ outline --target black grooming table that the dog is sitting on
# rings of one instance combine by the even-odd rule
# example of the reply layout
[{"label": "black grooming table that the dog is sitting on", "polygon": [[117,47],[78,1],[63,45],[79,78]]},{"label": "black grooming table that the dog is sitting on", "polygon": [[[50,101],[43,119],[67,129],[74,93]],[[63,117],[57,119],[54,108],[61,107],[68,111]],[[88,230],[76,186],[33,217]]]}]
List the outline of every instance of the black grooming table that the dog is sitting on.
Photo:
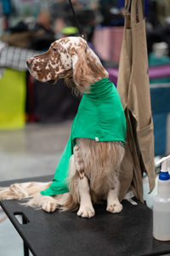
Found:
[{"label": "black grooming table that the dog is sitting on", "polygon": [[[48,181],[37,177],[0,183],[0,186],[27,181]],[[80,218],[76,212],[47,213],[23,207],[20,201],[1,201],[25,245],[37,256],[138,256],[170,253],[170,241],[152,237],[152,211],[138,201],[133,206],[122,201],[121,213],[105,211],[105,204],[95,207],[94,218]],[[23,224],[15,218],[21,215]],[[1,231],[3,232],[3,230]]]}]

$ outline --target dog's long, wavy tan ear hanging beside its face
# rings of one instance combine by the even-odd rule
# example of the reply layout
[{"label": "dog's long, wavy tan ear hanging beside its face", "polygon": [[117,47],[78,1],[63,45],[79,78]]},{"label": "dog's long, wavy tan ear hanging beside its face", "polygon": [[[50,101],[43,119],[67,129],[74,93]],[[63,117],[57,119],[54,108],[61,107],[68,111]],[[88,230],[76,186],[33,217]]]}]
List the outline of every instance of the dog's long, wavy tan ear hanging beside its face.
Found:
[{"label": "dog's long, wavy tan ear hanging beside its face", "polygon": [[73,81],[81,92],[88,90],[89,84],[94,83],[93,72],[88,64],[88,44],[84,43],[74,49],[72,54]]}]

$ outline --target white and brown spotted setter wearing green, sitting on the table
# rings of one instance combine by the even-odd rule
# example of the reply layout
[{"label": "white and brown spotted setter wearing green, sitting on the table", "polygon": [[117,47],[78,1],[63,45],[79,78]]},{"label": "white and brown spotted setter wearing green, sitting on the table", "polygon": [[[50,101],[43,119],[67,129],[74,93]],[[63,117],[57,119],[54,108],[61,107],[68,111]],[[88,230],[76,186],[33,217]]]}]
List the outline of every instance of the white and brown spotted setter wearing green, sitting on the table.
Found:
[{"label": "white and brown spotted setter wearing green, sitting on the table", "polygon": [[[54,83],[65,78],[72,90],[83,93],[89,84],[106,78],[108,73],[94,51],[80,37],[61,38],[51,44],[47,52],[27,61],[31,75],[42,82]],[[93,203],[107,200],[108,212],[121,212],[118,200],[119,166],[124,148],[118,142],[95,142],[77,138],[69,168],[69,193],[41,195],[49,183],[15,183],[0,189],[0,199],[31,198],[26,205],[40,207],[47,212],[56,208],[76,209],[78,216],[94,216]]]}]

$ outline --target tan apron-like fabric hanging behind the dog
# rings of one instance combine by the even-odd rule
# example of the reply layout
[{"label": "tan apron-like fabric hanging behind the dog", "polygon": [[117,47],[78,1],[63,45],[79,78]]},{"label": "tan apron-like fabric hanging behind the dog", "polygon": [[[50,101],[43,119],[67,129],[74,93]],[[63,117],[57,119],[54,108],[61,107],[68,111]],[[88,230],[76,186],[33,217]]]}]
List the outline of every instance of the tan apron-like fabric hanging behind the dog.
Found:
[{"label": "tan apron-like fabric hanging behind the dog", "polygon": [[[130,12],[129,12],[130,9]],[[141,0],[125,1],[125,26],[117,90],[127,119],[127,147],[121,166],[120,200],[132,189],[143,201],[143,173],[155,187],[153,121]]]}]

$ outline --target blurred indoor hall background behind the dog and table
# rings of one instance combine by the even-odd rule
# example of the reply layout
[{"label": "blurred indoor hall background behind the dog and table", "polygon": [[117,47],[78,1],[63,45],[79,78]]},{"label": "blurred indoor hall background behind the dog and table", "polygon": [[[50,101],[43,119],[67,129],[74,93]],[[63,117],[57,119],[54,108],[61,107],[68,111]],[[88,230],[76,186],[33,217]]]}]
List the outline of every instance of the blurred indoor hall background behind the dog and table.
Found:
[{"label": "blurred indoor hall background behind the dog and table", "polygon": [[[116,85],[124,1],[71,2],[88,45]],[[170,0],[143,0],[143,6],[157,160],[170,154]],[[0,181],[54,174],[81,98],[63,80],[49,85],[33,79],[26,60],[77,34],[67,0],[0,0]],[[151,207],[156,192],[148,191],[145,176],[144,199]],[[0,255],[22,255],[20,237],[3,212],[0,219]]]}]

